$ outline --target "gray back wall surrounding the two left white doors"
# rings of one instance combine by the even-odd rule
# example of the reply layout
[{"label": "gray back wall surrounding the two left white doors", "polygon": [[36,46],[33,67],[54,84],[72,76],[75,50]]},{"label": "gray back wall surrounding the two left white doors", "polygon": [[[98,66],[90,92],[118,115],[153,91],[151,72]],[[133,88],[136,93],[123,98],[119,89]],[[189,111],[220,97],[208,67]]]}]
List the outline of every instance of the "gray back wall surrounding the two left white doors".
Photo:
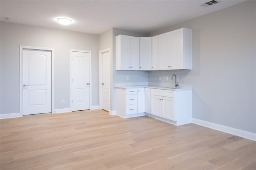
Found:
[{"label": "gray back wall surrounding the two left white doors", "polygon": [[20,112],[20,45],[54,48],[55,109],[70,108],[70,49],[92,51],[92,106],[99,105],[98,35],[1,22],[1,114]]}]

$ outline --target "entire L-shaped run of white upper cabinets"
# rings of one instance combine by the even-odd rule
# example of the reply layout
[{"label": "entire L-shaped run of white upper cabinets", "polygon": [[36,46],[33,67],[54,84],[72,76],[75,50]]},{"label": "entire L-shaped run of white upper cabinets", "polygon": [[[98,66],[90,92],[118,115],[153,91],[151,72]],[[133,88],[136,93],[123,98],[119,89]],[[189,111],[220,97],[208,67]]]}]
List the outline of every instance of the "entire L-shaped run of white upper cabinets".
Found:
[{"label": "entire L-shaped run of white upper cabinets", "polygon": [[116,36],[116,70],[191,70],[192,30],[154,37]]}]

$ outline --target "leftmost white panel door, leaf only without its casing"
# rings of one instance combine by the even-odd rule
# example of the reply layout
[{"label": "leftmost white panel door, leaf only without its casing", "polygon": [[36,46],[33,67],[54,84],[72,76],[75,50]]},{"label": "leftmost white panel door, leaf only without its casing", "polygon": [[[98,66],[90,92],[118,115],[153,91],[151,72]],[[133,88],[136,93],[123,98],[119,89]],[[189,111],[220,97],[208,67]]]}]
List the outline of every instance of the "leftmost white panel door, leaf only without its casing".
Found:
[{"label": "leftmost white panel door, leaf only without its casing", "polygon": [[22,51],[23,115],[51,112],[51,58],[51,51]]}]

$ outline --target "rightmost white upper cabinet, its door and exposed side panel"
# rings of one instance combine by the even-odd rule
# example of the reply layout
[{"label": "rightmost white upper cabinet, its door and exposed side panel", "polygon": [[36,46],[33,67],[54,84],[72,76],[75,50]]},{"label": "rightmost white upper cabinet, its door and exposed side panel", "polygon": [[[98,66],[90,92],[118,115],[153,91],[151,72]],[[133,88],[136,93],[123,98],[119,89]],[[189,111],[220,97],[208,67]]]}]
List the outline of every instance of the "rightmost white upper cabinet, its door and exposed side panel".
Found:
[{"label": "rightmost white upper cabinet, its door and exposed side panel", "polygon": [[172,70],[192,69],[191,61],[191,29],[181,28],[170,32]]}]

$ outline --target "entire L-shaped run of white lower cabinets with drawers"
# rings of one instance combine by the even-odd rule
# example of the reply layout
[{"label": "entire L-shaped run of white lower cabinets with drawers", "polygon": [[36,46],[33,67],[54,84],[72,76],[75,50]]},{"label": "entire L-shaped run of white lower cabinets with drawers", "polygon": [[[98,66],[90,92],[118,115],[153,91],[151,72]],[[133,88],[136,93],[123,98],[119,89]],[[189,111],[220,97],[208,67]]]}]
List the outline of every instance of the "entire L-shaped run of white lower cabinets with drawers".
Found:
[{"label": "entire L-shaped run of white lower cabinets with drawers", "polygon": [[148,115],[174,125],[191,123],[192,90],[116,88],[116,114],[124,118]]}]

